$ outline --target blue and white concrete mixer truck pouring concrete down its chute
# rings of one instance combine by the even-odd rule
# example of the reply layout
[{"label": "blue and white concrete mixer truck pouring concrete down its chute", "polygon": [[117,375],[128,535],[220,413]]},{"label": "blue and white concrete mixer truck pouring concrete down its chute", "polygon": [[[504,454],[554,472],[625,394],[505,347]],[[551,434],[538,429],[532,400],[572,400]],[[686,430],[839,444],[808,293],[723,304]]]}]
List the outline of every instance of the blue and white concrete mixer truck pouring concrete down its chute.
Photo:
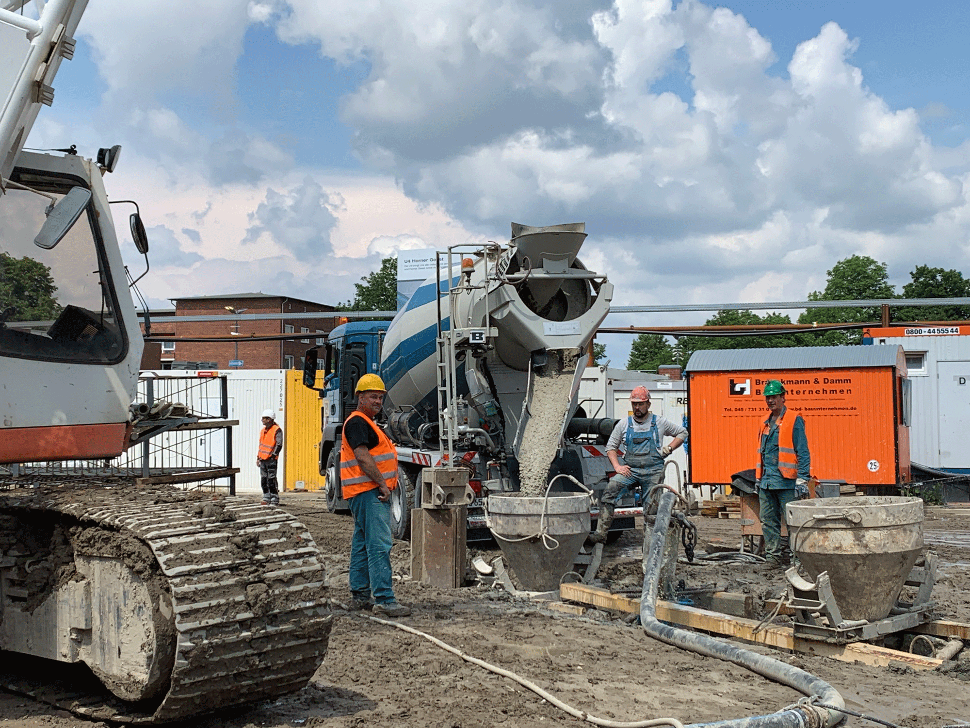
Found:
[{"label": "blue and white concrete mixer truck pouring concrete down its chute", "polygon": [[[327,372],[318,390],[319,457],[331,511],[348,508],[339,489],[340,428],[366,373],[388,389],[384,427],[398,447],[403,485],[392,493],[395,537],[408,535],[426,467],[469,469],[472,541],[489,538],[481,509],[489,493],[541,494],[559,474],[601,492],[613,475],[603,446],[616,420],[596,416],[602,403],[580,401],[577,392],[613,285],[577,257],[585,238],[584,223],[513,223],[507,245],[449,248],[393,321],[341,324],[324,351],[307,351],[307,386],[318,369]],[[554,487],[576,489],[566,479]],[[637,513],[631,499],[621,504],[615,531],[632,528]]]}]

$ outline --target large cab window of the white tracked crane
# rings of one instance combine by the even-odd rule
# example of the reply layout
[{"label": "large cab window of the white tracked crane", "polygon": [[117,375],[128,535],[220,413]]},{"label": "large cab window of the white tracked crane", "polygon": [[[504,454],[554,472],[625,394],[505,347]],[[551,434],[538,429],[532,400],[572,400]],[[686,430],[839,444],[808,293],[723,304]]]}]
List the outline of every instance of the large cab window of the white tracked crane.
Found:
[{"label": "large cab window of the white tracked crane", "polygon": [[[58,200],[78,183],[16,172],[14,179]],[[0,195],[0,356],[115,362],[125,339],[93,205],[46,250],[34,238],[49,204],[48,197],[22,189],[8,187]]]}]

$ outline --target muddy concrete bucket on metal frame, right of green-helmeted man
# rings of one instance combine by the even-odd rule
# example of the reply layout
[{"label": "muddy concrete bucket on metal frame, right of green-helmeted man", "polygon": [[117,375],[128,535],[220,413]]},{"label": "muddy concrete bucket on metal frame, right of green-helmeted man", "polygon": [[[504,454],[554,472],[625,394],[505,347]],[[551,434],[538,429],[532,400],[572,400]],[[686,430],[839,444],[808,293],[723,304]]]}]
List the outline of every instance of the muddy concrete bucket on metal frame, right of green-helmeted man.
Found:
[{"label": "muddy concrete bucket on metal frame, right of green-helmeted man", "polygon": [[790,503],[792,551],[812,580],[828,572],[845,619],[889,615],[922,548],[920,498],[873,496]]}]

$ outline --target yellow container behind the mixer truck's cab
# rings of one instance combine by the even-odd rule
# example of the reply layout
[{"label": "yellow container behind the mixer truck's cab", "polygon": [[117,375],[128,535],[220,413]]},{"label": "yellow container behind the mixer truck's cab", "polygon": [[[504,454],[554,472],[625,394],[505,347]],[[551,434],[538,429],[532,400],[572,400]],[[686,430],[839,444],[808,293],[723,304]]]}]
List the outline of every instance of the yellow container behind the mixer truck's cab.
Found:
[{"label": "yellow container behind the mixer truck's cab", "polygon": [[[316,385],[323,386],[323,372],[317,372]],[[322,490],[324,478],[319,470],[320,396],[303,384],[303,372],[286,372],[286,429],[283,452],[286,469],[284,490]],[[301,483],[298,485],[298,483]]]}]

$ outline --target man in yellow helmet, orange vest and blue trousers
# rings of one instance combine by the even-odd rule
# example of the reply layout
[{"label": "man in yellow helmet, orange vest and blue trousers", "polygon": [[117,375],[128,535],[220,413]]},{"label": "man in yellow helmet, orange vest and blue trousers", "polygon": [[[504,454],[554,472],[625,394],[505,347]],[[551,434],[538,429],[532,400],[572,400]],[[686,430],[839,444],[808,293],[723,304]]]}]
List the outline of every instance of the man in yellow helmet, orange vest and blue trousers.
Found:
[{"label": "man in yellow helmet, orange vest and blue trousers", "polygon": [[391,577],[390,500],[398,486],[398,450],[374,421],[387,390],[380,377],[366,374],[354,392],[357,409],[340,431],[340,489],[354,515],[349,608],[407,616],[411,611],[398,604]]}]

